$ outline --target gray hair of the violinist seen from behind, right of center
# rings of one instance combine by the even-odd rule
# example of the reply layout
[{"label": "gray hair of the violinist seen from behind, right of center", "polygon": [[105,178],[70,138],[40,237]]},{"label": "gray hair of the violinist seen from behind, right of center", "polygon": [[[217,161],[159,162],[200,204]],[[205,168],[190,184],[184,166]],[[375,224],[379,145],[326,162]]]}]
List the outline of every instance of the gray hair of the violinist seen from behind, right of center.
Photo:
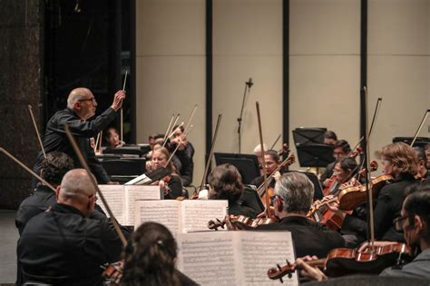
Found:
[{"label": "gray hair of the violinist seen from behind, right of center", "polygon": [[284,173],[275,185],[284,201],[284,212],[308,212],[314,198],[314,184],[304,173]]}]

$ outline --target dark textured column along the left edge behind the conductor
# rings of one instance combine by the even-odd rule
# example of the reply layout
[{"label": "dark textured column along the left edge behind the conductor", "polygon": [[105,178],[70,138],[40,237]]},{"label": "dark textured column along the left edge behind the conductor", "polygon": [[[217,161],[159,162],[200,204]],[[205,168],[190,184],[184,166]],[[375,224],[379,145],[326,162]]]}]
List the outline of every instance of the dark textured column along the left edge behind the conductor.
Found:
[{"label": "dark textured column along the left edge behind the conductor", "polygon": [[[42,3],[5,0],[0,9],[0,146],[29,167],[40,150],[27,105],[40,122]],[[0,208],[16,208],[31,191],[31,177],[3,153],[0,161]]]}]

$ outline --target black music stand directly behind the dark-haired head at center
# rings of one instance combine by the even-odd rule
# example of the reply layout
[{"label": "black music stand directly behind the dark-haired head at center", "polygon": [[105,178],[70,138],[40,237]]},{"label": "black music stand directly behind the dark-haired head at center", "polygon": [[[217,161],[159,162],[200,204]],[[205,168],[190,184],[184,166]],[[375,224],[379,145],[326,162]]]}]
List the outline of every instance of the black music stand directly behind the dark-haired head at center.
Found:
[{"label": "black music stand directly behind the dark-haired head at center", "polygon": [[249,184],[260,175],[259,159],[254,154],[214,153],[214,156],[217,166],[223,163],[235,166],[239,170],[244,184]]}]

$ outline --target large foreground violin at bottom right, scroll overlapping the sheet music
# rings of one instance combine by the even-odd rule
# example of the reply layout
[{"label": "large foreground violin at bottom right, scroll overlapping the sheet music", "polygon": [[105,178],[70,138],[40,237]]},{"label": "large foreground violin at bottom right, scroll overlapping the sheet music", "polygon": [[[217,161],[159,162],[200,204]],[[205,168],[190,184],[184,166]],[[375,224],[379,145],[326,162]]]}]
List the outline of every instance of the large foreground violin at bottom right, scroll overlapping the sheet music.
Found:
[{"label": "large foreground violin at bottom right, scroll overlapping the sheet music", "polygon": [[[376,247],[373,251],[357,251],[357,249],[337,248],[327,254],[327,258],[316,261],[307,261],[310,266],[321,268],[328,276],[337,277],[351,273],[378,274],[391,265],[400,265],[411,261],[411,250],[405,243],[393,243]],[[289,263],[277,268],[270,268],[268,276],[272,280],[281,280],[282,277],[295,271],[297,264]],[[282,280],[281,280],[282,281]]]}]

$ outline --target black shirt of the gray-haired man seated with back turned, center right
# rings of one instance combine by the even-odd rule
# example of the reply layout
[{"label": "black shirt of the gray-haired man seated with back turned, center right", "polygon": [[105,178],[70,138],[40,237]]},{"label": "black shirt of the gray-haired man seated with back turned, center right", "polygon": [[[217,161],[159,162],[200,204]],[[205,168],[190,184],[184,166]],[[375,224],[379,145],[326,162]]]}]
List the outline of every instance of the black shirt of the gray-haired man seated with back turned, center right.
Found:
[{"label": "black shirt of the gray-haired man seated with back turned, center right", "polygon": [[345,241],[338,232],[330,231],[322,224],[303,216],[288,216],[273,224],[260,225],[257,230],[291,232],[297,257],[317,255],[318,258],[323,258],[328,251],[345,247]]}]

